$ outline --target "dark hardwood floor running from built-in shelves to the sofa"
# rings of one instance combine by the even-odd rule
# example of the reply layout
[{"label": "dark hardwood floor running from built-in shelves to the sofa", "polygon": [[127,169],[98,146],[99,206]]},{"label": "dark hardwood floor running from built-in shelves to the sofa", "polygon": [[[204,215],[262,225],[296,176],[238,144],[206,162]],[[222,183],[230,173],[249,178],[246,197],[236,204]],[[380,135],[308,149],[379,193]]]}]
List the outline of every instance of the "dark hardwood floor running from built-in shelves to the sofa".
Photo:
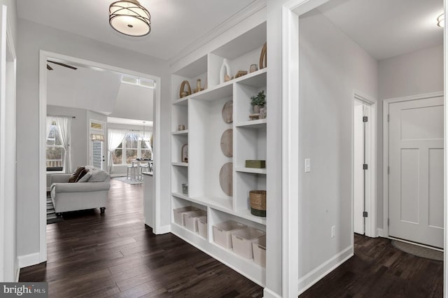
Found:
[{"label": "dark hardwood floor running from built-in shelves to the sofa", "polygon": [[111,180],[106,212],[47,225],[48,262],[21,269],[50,297],[262,297],[262,288],[173,234],[145,227],[142,186]]}]

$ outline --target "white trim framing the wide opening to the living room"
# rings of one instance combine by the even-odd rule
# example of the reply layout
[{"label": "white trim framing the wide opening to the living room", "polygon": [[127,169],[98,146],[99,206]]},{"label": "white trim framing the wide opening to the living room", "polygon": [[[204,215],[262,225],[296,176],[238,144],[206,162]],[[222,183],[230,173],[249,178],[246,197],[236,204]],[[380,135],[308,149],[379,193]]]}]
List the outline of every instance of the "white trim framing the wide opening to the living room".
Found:
[{"label": "white trim framing the wide opening to the living room", "polygon": [[[148,73],[140,73],[137,71],[130,71],[129,69],[122,69],[120,67],[111,66],[108,64],[102,64],[98,62],[92,62],[85,59],[76,57],[70,57],[55,52],[48,52],[41,50],[39,53],[39,262],[45,262],[47,260],[47,238],[46,238],[46,173],[45,173],[45,125],[47,116],[47,59],[61,59],[75,64],[88,65],[97,69],[106,69],[108,71],[114,71],[117,73],[124,73],[130,76],[136,76],[139,78],[147,78],[155,82],[155,92],[157,96],[154,101],[154,152],[161,152],[160,150],[160,103],[161,103],[161,79],[158,76],[152,76]],[[154,164],[160,165],[160,154],[156,154],[154,157]],[[160,199],[160,175],[157,174],[158,167],[154,168],[155,178],[155,199]],[[160,217],[160,214],[156,214]],[[157,220],[157,219],[156,219]],[[160,220],[160,218],[159,218]]]}]

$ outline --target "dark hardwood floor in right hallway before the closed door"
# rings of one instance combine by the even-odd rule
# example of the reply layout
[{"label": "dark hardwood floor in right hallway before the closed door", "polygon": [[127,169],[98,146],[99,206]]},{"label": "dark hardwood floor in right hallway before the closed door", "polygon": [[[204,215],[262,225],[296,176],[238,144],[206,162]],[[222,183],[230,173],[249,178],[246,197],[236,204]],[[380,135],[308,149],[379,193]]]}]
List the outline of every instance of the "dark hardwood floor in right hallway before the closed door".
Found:
[{"label": "dark hardwood floor in right hallway before the closed door", "polygon": [[403,253],[389,239],[355,234],[355,255],[300,298],[442,296],[443,262]]}]

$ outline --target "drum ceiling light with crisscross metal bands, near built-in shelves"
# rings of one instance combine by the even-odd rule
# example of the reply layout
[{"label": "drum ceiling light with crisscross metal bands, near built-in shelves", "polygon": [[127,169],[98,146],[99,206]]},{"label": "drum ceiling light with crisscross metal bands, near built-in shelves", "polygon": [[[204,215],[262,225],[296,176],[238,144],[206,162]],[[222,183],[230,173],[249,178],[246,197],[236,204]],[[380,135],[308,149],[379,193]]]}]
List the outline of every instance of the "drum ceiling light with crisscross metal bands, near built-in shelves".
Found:
[{"label": "drum ceiling light with crisscross metal bands, near built-in shelves", "polygon": [[116,1],[109,6],[109,24],[129,36],[145,36],[151,32],[151,15],[137,0]]}]

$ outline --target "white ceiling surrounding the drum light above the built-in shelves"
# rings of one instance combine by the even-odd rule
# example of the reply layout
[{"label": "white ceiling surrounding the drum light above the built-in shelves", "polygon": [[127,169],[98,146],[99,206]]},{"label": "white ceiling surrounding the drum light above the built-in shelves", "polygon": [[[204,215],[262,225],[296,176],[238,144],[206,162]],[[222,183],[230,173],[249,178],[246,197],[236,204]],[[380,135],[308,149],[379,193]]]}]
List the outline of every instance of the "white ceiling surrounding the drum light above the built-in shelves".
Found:
[{"label": "white ceiling surrounding the drum light above the built-in shelves", "polygon": [[256,1],[140,0],[151,13],[151,33],[143,37],[109,26],[113,0],[17,0],[17,6],[20,18],[167,60]]}]

